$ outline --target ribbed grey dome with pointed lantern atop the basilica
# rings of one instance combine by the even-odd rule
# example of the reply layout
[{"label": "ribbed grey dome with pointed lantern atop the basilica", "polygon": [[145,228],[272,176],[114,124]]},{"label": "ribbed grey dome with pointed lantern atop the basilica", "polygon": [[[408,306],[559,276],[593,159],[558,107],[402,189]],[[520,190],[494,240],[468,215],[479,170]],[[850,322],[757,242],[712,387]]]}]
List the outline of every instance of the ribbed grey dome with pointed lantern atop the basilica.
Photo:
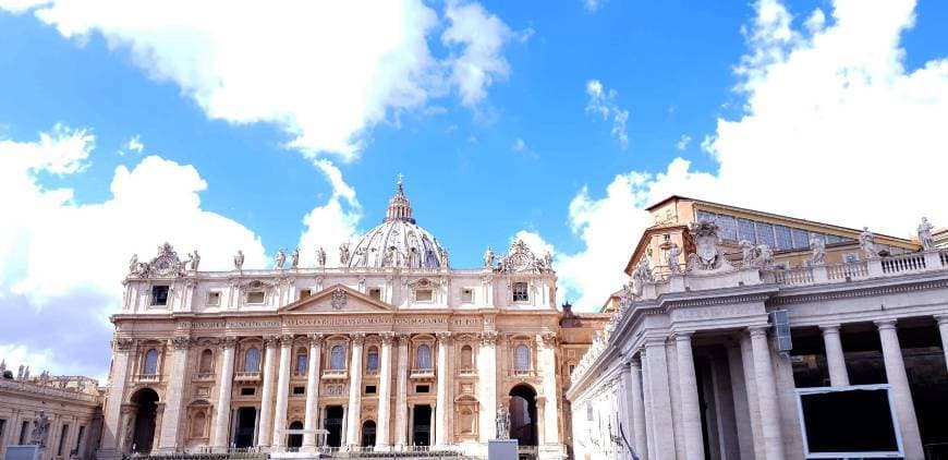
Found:
[{"label": "ribbed grey dome with pointed lantern atop the basilica", "polygon": [[402,177],[388,202],[382,222],[366,232],[352,249],[349,267],[441,268],[448,265],[448,252],[412,217]]}]

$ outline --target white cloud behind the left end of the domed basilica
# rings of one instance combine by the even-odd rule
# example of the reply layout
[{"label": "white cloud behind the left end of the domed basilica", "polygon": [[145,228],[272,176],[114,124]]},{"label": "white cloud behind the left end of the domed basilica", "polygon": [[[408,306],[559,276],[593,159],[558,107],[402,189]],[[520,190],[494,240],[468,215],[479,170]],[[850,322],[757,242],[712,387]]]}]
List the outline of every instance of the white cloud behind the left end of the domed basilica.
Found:
[{"label": "white cloud behind the left end of the domed basilica", "polygon": [[192,166],[158,156],[119,166],[111,197],[94,204],[39,182],[42,173],[66,181],[81,173],[94,148],[88,130],[63,125],[36,141],[0,141],[0,215],[16,217],[0,223],[0,316],[9,326],[0,350],[15,344],[17,355],[47,356],[56,373],[107,367],[106,318],[120,307],[132,253],[148,259],[169,241],[182,256],[199,250],[208,269],[229,269],[236,249],[248,266],[266,259],[253,231],[202,209],[207,183]]}]

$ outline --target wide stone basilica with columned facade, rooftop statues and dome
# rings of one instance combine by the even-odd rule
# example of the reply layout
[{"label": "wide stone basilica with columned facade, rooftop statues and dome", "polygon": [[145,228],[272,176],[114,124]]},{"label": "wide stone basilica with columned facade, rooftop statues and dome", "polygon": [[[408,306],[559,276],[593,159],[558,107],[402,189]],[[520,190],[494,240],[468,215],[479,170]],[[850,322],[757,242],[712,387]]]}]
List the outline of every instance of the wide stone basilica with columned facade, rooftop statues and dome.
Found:
[{"label": "wide stone basilica with columned facade, rooftop statues and dome", "polygon": [[516,242],[451,268],[400,179],[381,225],[336,255],[248,269],[239,252],[233,270],[199,271],[166,243],[133,258],[99,457],[313,452],[324,437],[485,455],[501,408],[525,455],[568,456],[564,387],[608,315],[557,310],[548,254]]}]

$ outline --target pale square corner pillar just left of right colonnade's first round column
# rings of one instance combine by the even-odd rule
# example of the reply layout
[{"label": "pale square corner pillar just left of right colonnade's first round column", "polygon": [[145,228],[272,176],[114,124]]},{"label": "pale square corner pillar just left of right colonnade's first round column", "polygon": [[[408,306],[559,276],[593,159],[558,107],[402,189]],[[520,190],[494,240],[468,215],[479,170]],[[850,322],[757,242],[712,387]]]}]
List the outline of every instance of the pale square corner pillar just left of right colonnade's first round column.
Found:
[{"label": "pale square corner pillar just left of right colonnade's first round column", "polygon": [[648,391],[651,394],[652,438],[655,448],[648,448],[652,460],[673,460],[674,423],[671,420],[671,391],[668,387],[668,362],[666,360],[665,339],[659,337],[645,339],[644,365],[648,366]]}]

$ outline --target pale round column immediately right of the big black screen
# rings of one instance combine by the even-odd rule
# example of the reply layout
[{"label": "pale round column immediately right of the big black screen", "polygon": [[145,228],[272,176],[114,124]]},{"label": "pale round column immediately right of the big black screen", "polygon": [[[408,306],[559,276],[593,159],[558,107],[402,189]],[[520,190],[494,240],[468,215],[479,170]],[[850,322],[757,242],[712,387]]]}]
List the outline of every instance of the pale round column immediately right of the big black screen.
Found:
[{"label": "pale round column immediately right of the big black screen", "polygon": [[889,383],[889,395],[891,395],[892,405],[896,408],[906,458],[923,459],[925,455],[922,451],[922,436],[919,432],[919,420],[915,419],[915,405],[912,402],[909,377],[906,375],[906,362],[902,360],[902,348],[899,344],[896,320],[886,319],[875,323],[879,328],[879,341],[883,346],[883,360],[886,365],[886,380]]}]

